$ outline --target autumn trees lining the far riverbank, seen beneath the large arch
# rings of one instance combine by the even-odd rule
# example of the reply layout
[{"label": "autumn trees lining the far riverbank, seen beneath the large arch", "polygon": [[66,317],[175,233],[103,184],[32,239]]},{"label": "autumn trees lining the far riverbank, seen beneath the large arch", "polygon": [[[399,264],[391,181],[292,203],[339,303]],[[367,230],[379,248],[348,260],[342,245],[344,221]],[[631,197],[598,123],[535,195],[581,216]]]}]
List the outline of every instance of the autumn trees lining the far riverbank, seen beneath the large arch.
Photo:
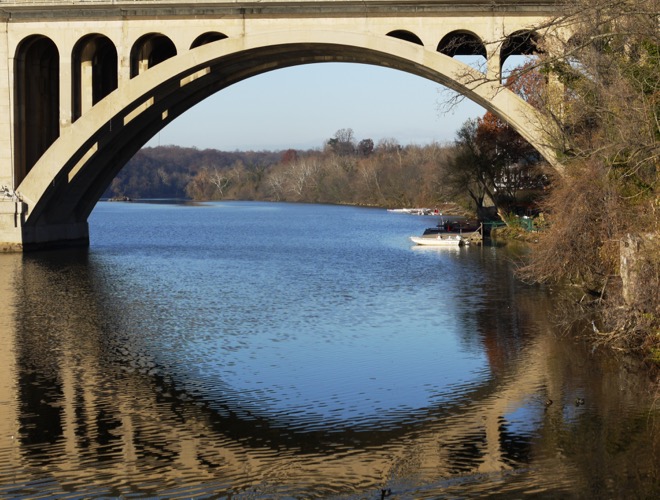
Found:
[{"label": "autumn trees lining the far riverbank, seen beneath the large arch", "polygon": [[[533,193],[546,176],[529,145],[516,152],[509,147],[510,154],[502,156],[503,144],[520,141],[504,122],[487,113],[468,120],[450,144],[402,146],[395,139],[374,144],[372,139],[356,140],[353,130],[346,128],[322,148],[310,150],[144,148],[112,181],[105,197],[406,208],[451,204],[477,214],[494,203],[504,204],[507,211],[521,210],[533,203]],[[477,161],[466,152],[470,148],[493,153],[480,154]],[[474,168],[466,166],[470,162]]]}]

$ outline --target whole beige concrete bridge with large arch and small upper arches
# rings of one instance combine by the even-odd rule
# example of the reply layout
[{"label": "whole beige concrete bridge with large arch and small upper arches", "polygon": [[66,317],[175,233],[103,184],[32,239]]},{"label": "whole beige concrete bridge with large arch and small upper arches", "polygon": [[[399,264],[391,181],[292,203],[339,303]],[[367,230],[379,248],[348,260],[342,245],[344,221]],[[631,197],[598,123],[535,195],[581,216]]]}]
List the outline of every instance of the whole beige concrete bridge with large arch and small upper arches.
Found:
[{"label": "whole beige concrete bridge with large arch and small upper arches", "polygon": [[[320,62],[391,67],[456,90],[556,164],[540,116],[499,83],[549,0],[5,0],[0,3],[0,248],[89,243],[126,162],[206,97]],[[457,61],[485,58],[491,83]]]}]

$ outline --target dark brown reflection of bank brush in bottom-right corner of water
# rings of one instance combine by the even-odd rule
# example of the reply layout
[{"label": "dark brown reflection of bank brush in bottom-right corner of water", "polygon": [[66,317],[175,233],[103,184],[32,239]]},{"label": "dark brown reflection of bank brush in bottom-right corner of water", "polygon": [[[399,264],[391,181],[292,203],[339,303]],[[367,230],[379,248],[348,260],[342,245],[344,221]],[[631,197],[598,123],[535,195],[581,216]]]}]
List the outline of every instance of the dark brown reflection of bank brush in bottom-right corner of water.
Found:
[{"label": "dark brown reflection of bank brush in bottom-right corner of water", "polygon": [[553,345],[548,366],[562,386],[541,427],[544,448],[560,450],[594,498],[659,498],[660,406],[647,368],[569,335]]}]

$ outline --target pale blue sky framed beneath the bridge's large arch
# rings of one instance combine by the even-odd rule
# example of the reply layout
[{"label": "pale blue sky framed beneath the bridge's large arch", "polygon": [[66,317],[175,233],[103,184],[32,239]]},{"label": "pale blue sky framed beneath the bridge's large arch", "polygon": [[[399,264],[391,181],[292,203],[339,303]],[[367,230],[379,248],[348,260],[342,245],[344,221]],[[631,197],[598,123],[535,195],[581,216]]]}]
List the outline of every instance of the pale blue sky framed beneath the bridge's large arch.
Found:
[{"label": "pale blue sky framed beneath the bridge's large arch", "polygon": [[464,99],[447,112],[450,91],[391,68],[322,63],[279,69],[228,87],[178,117],[147,146],[222,151],[320,149],[340,129],[356,142],[449,143],[485,110]]}]

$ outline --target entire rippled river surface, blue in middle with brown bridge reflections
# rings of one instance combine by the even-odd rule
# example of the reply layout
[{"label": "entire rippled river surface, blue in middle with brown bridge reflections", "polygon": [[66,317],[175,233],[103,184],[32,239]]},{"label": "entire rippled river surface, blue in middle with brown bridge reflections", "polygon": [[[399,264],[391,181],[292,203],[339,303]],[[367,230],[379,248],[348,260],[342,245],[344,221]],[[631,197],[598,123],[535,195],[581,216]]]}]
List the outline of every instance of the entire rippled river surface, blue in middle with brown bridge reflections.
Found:
[{"label": "entire rippled river surface, blue in middle with brown bridge reflections", "polygon": [[99,203],[0,255],[0,497],[659,497],[648,376],[436,222]]}]

